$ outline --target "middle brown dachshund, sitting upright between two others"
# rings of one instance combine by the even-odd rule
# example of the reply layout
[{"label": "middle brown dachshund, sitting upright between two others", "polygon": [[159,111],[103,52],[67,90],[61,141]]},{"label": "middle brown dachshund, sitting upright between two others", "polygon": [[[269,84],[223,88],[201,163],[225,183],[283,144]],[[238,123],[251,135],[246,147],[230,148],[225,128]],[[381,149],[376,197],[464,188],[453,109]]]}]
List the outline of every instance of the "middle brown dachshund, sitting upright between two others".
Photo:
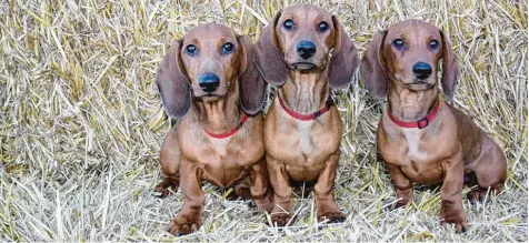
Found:
[{"label": "middle brown dachshund, sitting upright between two others", "polygon": [[345,220],[333,191],[341,119],[329,88],[351,82],[359,63],[355,44],[335,16],[305,4],[278,12],[256,45],[259,72],[280,87],[264,120],[272,223],[291,219],[291,182],[316,183],[319,221]]}]

